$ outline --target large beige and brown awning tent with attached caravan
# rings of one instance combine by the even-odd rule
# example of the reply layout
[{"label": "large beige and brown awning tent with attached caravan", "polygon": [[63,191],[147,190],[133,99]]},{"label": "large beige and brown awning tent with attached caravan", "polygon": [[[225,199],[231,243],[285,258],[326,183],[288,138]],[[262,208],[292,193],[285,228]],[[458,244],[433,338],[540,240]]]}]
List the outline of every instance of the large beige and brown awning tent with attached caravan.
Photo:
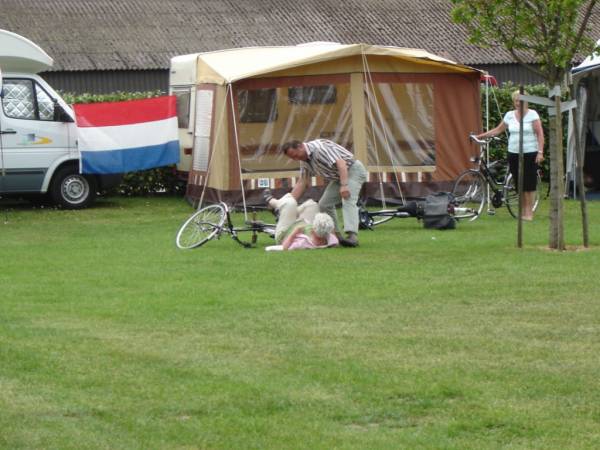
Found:
[{"label": "large beige and brown awning tent with attached caravan", "polygon": [[260,187],[289,189],[298,164],[279,146],[318,138],[365,163],[369,195],[450,189],[481,127],[479,83],[479,71],[426,51],[365,44],[175,57],[188,196],[236,202]]}]

